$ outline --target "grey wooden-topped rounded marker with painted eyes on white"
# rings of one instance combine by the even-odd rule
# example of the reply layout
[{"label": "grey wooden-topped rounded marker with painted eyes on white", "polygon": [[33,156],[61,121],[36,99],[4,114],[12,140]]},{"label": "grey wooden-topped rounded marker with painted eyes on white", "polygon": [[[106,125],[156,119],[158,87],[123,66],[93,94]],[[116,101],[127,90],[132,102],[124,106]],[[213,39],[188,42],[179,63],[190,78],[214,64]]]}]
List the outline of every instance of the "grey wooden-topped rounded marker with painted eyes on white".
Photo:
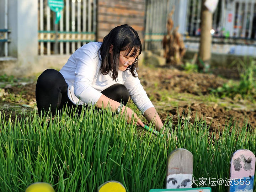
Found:
[{"label": "grey wooden-topped rounded marker with painted eyes on white", "polygon": [[192,188],[193,155],[187,149],[175,149],[167,159],[166,189]]}]

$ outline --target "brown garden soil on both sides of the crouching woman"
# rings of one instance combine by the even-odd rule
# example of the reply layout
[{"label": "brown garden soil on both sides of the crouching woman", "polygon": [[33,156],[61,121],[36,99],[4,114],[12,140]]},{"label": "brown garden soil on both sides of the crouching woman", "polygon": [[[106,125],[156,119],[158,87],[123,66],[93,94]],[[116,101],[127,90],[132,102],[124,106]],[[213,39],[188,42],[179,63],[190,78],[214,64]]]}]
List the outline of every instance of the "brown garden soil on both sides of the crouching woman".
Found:
[{"label": "brown garden soil on both sides of the crouching woman", "polygon": [[[210,130],[223,129],[229,122],[235,122],[240,128],[256,127],[255,103],[239,97],[221,98],[215,102],[205,99],[210,95],[210,89],[222,86],[228,79],[214,74],[188,73],[175,68],[141,66],[137,71],[144,89],[163,122],[169,116],[173,124],[177,124],[178,116],[183,114],[183,119],[187,118],[191,123],[202,119]],[[6,117],[10,111],[17,111],[17,105],[23,110],[33,110],[33,107],[36,107],[35,88],[36,82],[26,85],[7,84],[0,95],[1,110],[5,111]],[[165,94],[164,100],[162,93]],[[172,103],[176,105],[173,106]],[[12,116],[14,117],[14,113]]]}]

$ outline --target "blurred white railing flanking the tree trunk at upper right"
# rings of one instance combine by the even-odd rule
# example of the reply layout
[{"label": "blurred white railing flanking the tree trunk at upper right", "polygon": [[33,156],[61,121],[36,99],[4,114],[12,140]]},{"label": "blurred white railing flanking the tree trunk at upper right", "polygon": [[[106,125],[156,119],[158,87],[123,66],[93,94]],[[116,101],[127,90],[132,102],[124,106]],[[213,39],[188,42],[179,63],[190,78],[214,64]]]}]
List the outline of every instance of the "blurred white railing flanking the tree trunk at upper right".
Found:
[{"label": "blurred white railing flanking the tree trunk at upper right", "polygon": [[[190,36],[200,34],[201,1],[188,0],[186,31]],[[256,0],[219,1],[213,14],[214,37],[256,38]]]}]

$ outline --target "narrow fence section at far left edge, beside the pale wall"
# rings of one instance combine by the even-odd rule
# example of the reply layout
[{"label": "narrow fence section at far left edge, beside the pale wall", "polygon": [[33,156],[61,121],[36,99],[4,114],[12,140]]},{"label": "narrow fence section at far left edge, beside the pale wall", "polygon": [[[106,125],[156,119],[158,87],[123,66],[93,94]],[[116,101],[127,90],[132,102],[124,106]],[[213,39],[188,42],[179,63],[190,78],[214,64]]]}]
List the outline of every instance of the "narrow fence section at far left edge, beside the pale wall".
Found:
[{"label": "narrow fence section at far left edge, beside the pale wall", "polygon": [[8,43],[10,40],[8,39],[8,33],[10,33],[10,30],[8,30],[8,0],[5,0],[4,2],[4,26],[0,26],[0,57],[8,56]]}]

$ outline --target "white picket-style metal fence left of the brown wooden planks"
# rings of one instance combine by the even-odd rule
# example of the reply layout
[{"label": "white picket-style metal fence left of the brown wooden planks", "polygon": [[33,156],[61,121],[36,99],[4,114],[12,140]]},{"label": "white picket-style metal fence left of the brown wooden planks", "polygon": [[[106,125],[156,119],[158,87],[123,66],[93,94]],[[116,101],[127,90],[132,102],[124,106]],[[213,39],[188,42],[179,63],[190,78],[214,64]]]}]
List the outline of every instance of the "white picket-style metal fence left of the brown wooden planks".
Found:
[{"label": "white picket-style metal fence left of the brown wooden planks", "polygon": [[64,0],[58,25],[47,0],[39,0],[39,55],[72,54],[96,40],[96,0]]}]

